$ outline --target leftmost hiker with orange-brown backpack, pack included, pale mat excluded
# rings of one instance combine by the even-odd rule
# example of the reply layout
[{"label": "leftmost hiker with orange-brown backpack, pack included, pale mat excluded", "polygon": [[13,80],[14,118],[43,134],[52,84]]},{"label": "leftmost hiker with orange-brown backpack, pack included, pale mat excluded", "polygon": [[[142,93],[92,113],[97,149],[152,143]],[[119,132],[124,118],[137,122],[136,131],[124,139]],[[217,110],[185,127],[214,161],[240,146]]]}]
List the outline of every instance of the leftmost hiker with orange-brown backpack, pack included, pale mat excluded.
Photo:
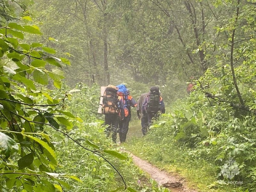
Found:
[{"label": "leftmost hiker with orange-brown backpack, pack included, pale mat excluded", "polygon": [[124,119],[124,102],[117,95],[118,88],[108,85],[103,95],[102,113],[105,114],[105,125],[108,125],[105,132],[107,136],[112,132],[112,140],[116,143],[118,121]]}]

